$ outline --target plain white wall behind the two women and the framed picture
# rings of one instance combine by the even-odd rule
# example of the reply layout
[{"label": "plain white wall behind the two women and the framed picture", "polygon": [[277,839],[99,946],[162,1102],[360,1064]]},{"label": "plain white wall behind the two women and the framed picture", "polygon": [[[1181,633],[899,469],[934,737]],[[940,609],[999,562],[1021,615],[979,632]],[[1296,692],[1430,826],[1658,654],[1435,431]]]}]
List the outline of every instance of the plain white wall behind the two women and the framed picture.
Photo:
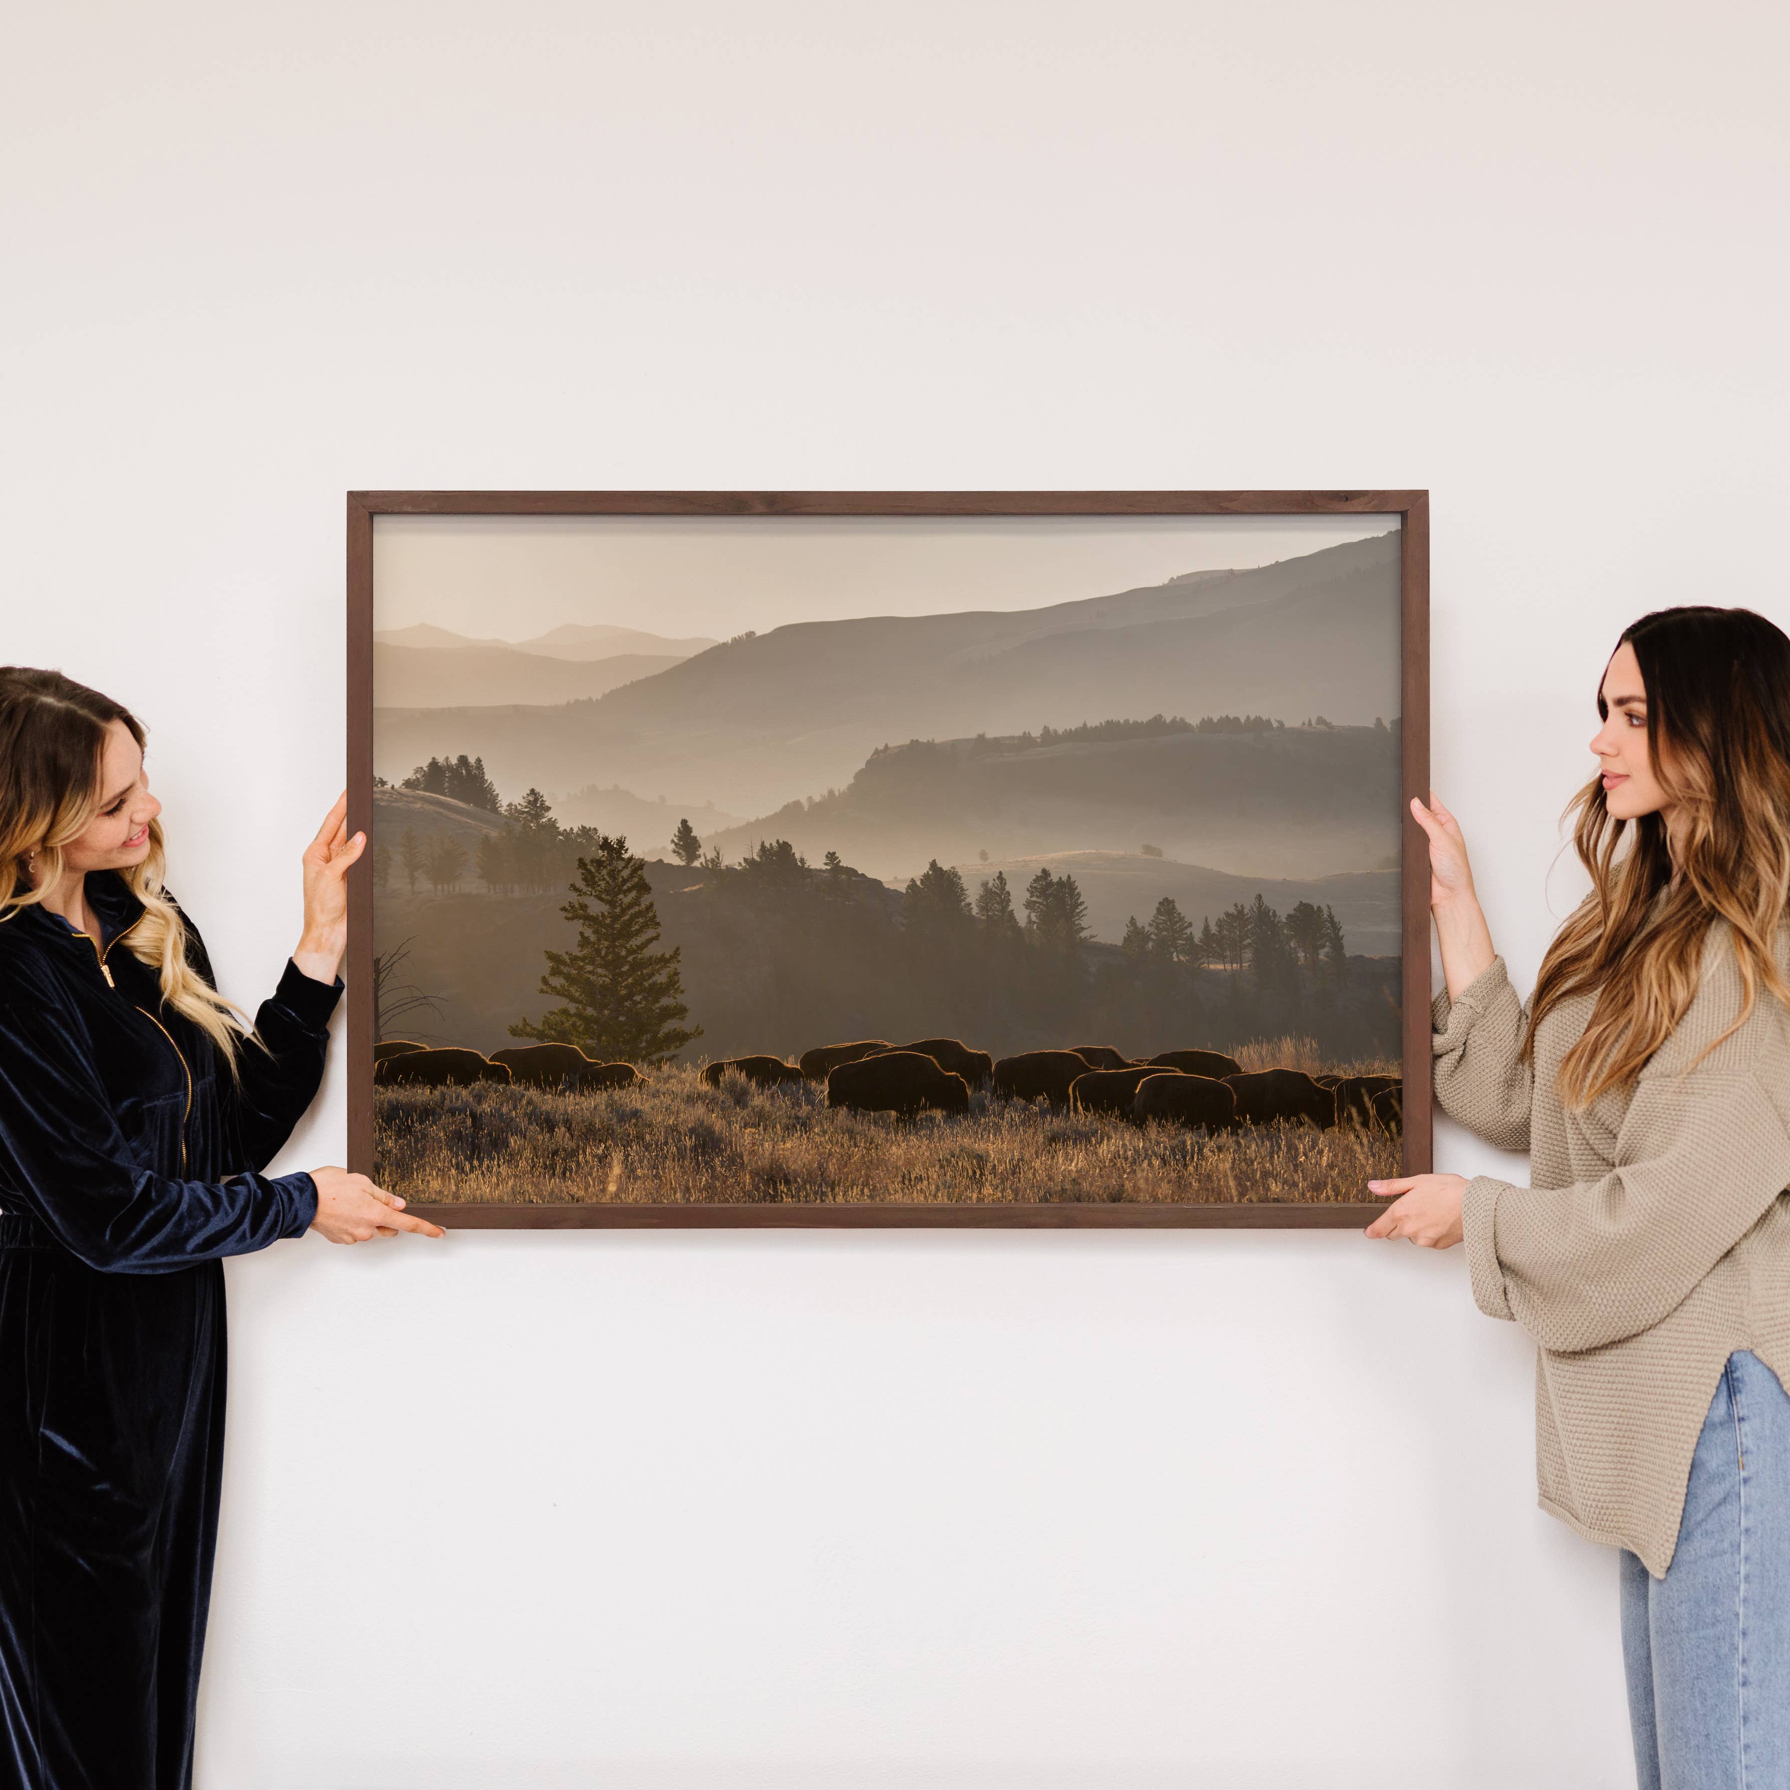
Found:
[{"label": "plain white wall behind the two women and the framed picture", "polygon": [[[4,653],[150,720],[245,997],[342,780],[349,487],[1428,485],[1437,786],[1520,977],[1616,628],[1790,621],[1781,7],[7,39]],[[342,1115],[338,1054],[286,1162]],[[1534,1509],[1457,1257],[464,1233],[231,1300],[204,1790],[1631,1781],[1615,1563]]]}]

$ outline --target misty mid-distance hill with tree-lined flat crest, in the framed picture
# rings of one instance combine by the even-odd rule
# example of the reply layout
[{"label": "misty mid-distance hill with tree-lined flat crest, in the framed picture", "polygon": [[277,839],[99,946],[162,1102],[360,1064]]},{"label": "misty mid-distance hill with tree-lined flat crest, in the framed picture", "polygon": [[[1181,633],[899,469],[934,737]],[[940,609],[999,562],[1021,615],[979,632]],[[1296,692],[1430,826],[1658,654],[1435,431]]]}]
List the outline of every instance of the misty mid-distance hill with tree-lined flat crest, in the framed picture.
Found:
[{"label": "misty mid-distance hill with tree-lined flat crest, in the framed picture", "polygon": [[1137,852],[1146,843],[1183,863],[1300,877],[1396,861],[1398,834],[1396,734],[1287,727],[893,746],[843,789],[705,843],[732,861],[759,840],[789,840],[814,863],[834,850],[886,881],[906,881],[931,857]]}]

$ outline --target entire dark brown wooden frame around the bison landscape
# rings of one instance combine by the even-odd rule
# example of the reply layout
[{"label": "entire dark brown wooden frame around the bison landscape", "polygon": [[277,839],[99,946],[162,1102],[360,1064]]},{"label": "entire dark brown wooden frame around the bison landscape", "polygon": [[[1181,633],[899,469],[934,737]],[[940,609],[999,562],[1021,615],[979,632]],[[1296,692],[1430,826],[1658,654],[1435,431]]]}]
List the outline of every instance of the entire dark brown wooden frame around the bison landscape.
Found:
[{"label": "entire dark brown wooden frame around the bison landscape", "polygon": [[[347,496],[349,831],[372,829],[372,519],[376,516],[1391,516],[1402,519],[1405,1174],[1430,1167],[1428,850],[1411,797],[1430,788],[1430,501],[1427,490],[353,490]],[[349,872],[347,1160],[372,1172],[372,854]],[[1249,1205],[417,1205],[482,1230],[584,1228],[1239,1228],[1341,1230],[1382,1203]]]}]

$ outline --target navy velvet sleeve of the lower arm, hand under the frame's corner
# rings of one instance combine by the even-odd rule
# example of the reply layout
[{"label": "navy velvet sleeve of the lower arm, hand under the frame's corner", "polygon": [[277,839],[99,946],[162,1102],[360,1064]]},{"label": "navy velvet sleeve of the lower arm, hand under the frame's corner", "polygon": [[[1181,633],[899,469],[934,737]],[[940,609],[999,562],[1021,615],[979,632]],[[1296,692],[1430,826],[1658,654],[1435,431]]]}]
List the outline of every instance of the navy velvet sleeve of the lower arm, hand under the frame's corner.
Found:
[{"label": "navy velvet sleeve of the lower arm, hand under the frame's corner", "polygon": [[247,1255],[317,1215],[308,1174],[179,1181],[140,1167],[57,990],[16,963],[0,972],[0,1167],[7,1206],[115,1273]]}]

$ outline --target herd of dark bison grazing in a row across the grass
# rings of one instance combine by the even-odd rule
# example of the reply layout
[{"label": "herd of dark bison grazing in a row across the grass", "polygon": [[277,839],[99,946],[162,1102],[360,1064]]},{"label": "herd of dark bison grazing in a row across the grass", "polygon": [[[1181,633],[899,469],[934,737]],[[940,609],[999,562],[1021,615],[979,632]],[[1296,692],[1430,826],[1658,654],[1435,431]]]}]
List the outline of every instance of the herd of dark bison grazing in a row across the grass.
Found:
[{"label": "herd of dark bison grazing in a row across the grass", "polygon": [[[1106,1113],[1137,1124],[1158,1121],[1206,1133],[1274,1122],[1396,1133],[1403,1122],[1398,1076],[1244,1070],[1223,1051],[1164,1051],[1135,1060],[1108,1044],[1078,1044],[995,1060],[956,1038],[915,1044],[859,1038],[804,1051],[795,1063],[780,1056],[725,1058],[702,1069],[702,1085],[716,1088],[730,1074],[759,1088],[823,1083],[829,1106],[904,1117],[968,1112],[970,1092],[988,1088],[1002,1101],[1047,1101],[1053,1112]],[[379,1087],[508,1081],[587,1092],[632,1088],[643,1076],[632,1063],[600,1063],[571,1044],[528,1044],[482,1056],[394,1038],[374,1045],[372,1079]]]}]

